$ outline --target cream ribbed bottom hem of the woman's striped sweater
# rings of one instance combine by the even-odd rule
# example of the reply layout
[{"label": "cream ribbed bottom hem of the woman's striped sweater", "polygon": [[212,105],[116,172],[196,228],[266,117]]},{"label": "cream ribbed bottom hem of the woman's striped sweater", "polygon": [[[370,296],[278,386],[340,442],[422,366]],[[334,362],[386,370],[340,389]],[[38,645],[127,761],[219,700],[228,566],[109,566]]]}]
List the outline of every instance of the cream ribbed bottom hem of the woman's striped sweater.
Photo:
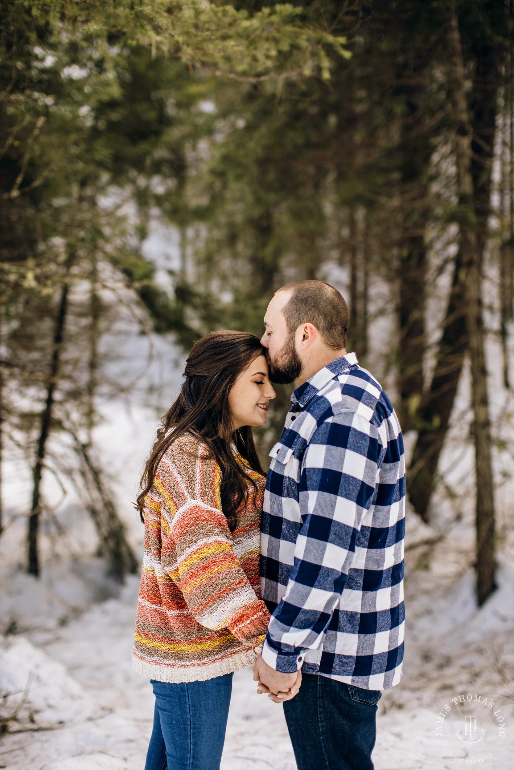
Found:
[{"label": "cream ribbed bottom hem of the woman's striped sweater", "polygon": [[186,681],[207,681],[207,679],[213,679],[217,676],[223,676],[225,674],[231,674],[233,671],[239,671],[240,668],[247,668],[247,666],[254,665],[257,660],[258,653],[253,650],[244,650],[237,654],[230,655],[215,663],[209,663],[207,665],[193,665],[190,668],[182,668],[179,666],[167,666],[160,663],[150,663],[149,661],[142,661],[133,654],[132,668],[137,671],[138,674],[148,677],[149,679],[155,679],[156,681],[164,681],[170,684],[180,684]]}]

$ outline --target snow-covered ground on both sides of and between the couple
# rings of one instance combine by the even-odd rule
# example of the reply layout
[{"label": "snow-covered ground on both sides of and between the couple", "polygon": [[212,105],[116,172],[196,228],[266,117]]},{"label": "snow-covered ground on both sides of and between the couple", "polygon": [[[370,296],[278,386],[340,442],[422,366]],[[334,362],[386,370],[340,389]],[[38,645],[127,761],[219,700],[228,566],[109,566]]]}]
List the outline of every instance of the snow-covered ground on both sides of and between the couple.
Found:
[{"label": "snow-covered ground on both sides of and between the couple", "polygon": [[[444,553],[441,558],[445,559]],[[486,728],[483,741],[473,747],[455,737],[464,724],[465,708],[459,711],[451,701],[461,692],[494,695],[508,723],[512,721],[512,700],[498,699],[499,683],[491,678],[490,655],[495,645],[502,648],[506,660],[514,653],[514,576],[508,570],[502,575],[503,586],[495,601],[482,611],[469,605],[469,575],[456,581],[448,593],[447,608],[444,602],[440,605],[446,626],[441,628],[438,618],[438,631],[432,637],[431,613],[426,611],[432,601],[428,584],[425,604],[423,597],[416,600],[412,615],[416,608],[419,617],[411,624],[407,673],[401,685],[385,693],[379,704],[376,770],[452,770],[463,764],[486,765],[491,770],[512,768],[511,732],[498,738],[492,711],[473,704],[473,713]],[[422,577],[427,583],[427,577]],[[411,582],[419,597],[419,586],[415,579]],[[0,656],[4,686],[8,681],[12,691],[22,691],[31,678],[23,724],[29,724],[27,715],[32,708],[34,727],[52,729],[7,735],[0,746],[0,767],[143,770],[153,695],[149,682],[131,668],[138,583],[137,578],[130,578],[119,598],[94,605],[62,628],[16,635],[6,641]],[[486,633],[488,628],[492,636]],[[437,712],[448,703],[452,711],[438,737]],[[472,758],[479,761],[472,762]],[[296,768],[282,708],[257,695],[250,669],[234,676],[221,767]]]}]

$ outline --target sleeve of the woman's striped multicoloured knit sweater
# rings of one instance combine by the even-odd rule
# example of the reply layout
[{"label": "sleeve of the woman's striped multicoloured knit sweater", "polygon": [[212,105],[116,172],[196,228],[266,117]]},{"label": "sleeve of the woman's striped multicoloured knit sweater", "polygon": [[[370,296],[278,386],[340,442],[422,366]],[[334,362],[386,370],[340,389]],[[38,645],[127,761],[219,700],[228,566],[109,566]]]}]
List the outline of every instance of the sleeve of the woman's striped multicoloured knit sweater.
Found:
[{"label": "sleeve of the woman's striped multicoloured knit sweater", "polygon": [[255,646],[264,641],[270,614],[233,552],[220,481],[217,462],[202,457],[200,450],[195,472],[180,474],[186,501],[173,516],[169,534],[163,531],[163,547],[169,538],[177,560],[173,580],[193,618],[205,628],[228,628],[239,641]]}]

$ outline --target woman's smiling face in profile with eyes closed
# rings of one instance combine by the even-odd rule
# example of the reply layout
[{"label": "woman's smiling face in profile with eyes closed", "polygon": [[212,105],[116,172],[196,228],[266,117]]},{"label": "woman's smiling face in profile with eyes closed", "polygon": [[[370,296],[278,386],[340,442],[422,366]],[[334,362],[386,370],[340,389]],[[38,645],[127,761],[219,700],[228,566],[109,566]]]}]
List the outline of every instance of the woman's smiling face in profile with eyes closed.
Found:
[{"label": "woman's smiling face in profile with eyes closed", "polygon": [[267,405],[276,395],[267,376],[267,361],[264,356],[259,356],[240,373],[230,390],[228,400],[233,429],[265,425]]}]

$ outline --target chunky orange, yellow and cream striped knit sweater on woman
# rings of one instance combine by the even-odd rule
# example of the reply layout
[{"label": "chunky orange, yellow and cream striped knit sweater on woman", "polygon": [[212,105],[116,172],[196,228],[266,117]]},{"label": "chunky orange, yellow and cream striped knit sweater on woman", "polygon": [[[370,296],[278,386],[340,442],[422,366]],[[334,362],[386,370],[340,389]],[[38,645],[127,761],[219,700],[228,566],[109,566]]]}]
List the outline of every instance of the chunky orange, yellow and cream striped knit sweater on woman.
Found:
[{"label": "chunky orange, yellow and cream striped knit sweater on woman", "polygon": [[133,668],[157,681],[203,681],[253,664],[270,619],[259,598],[266,480],[239,458],[259,492],[231,533],[209,454],[199,438],[179,437],[146,496]]}]

